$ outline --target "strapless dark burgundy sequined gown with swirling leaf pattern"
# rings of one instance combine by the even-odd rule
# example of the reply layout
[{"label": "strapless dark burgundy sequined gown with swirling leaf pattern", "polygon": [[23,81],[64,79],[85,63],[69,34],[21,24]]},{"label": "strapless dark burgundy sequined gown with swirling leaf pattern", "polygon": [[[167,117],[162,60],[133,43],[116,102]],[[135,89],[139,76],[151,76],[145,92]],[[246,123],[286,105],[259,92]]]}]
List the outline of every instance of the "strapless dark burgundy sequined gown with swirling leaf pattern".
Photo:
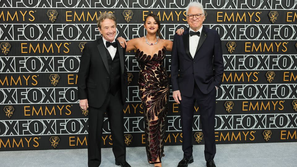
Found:
[{"label": "strapless dark burgundy sequined gown with swirling leaf pattern", "polygon": [[[164,152],[164,135],[167,102],[169,98],[169,77],[163,61],[166,48],[158,54],[143,54],[137,49],[135,58],[140,67],[138,88],[144,109],[144,130],[146,139],[146,152],[148,161],[155,162]],[[155,119],[155,117],[157,117]],[[153,121],[155,120],[155,121]]]}]

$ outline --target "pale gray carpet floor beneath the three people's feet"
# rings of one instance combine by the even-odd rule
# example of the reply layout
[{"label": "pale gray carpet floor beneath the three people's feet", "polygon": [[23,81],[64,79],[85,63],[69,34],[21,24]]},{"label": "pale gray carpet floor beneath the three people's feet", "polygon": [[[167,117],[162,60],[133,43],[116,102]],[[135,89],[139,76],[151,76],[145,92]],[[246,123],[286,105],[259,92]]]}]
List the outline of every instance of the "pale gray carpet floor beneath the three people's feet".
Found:
[{"label": "pale gray carpet floor beneath the three people's feet", "polygon": [[[183,156],[181,146],[165,146],[162,167],[175,167]],[[204,146],[193,147],[194,163],[205,166]],[[144,147],[127,148],[132,167],[148,164]],[[219,144],[214,159],[217,167],[289,167],[297,166],[297,143]],[[0,152],[0,166],[87,166],[87,149]],[[102,167],[117,167],[111,148],[102,149]]]}]

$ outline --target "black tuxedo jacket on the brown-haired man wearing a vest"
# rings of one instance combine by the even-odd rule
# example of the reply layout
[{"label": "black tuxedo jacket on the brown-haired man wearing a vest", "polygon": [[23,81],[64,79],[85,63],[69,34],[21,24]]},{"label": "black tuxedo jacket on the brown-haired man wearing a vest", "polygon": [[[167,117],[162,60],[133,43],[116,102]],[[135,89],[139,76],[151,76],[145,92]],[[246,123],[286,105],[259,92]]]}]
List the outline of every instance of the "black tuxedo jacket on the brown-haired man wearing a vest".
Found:
[{"label": "black tuxedo jacket on the brown-haired man wearing a vest", "polygon": [[[126,101],[127,69],[124,64],[126,50],[117,42],[121,65],[122,101]],[[84,45],[78,71],[78,98],[88,99],[88,105],[99,108],[105,101],[110,86],[110,71],[102,37]]]}]

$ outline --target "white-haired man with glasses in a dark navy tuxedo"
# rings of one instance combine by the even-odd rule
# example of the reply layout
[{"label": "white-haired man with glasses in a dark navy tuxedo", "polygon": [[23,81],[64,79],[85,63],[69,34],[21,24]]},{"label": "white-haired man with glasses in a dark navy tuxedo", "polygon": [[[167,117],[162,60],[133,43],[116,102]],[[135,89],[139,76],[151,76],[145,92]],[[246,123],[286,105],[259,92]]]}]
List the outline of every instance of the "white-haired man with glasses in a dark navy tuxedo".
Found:
[{"label": "white-haired man with glasses in a dark navy tuxedo", "polygon": [[178,167],[193,162],[192,124],[194,104],[198,104],[204,156],[207,167],[215,167],[214,137],[216,89],[220,87],[224,72],[221,39],[217,31],[205,28],[203,6],[191,2],[186,9],[189,28],[182,36],[174,35],[171,59],[171,84],[174,100],[180,104],[183,131],[183,160]]}]

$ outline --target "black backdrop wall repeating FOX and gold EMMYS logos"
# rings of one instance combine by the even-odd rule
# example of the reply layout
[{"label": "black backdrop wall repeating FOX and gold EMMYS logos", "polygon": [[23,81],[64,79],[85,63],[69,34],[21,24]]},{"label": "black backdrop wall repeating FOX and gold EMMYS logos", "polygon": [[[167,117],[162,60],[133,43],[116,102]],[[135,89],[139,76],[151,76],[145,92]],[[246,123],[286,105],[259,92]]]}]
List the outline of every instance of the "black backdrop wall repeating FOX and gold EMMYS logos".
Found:
[{"label": "black backdrop wall repeating FOX and gold EMMYS logos", "polygon": [[[132,39],[146,34],[144,17],[153,12],[162,37],[173,40],[177,29],[188,27],[189,2],[0,0],[0,151],[87,148],[88,111],[79,107],[76,83],[84,44],[100,37],[97,17],[113,13],[117,36]],[[200,2],[204,26],[219,32],[223,48],[216,143],[296,142],[297,1]],[[127,147],[144,146],[146,140],[134,54],[125,58],[128,97],[119,111]],[[170,64],[167,52],[169,74]],[[193,143],[204,144],[199,106],[193,112]],[[172,96],[167,121],[166,145],[181,145],[179,105]],[[112,146],[107,118],[101,140],[102,147]]]}]

